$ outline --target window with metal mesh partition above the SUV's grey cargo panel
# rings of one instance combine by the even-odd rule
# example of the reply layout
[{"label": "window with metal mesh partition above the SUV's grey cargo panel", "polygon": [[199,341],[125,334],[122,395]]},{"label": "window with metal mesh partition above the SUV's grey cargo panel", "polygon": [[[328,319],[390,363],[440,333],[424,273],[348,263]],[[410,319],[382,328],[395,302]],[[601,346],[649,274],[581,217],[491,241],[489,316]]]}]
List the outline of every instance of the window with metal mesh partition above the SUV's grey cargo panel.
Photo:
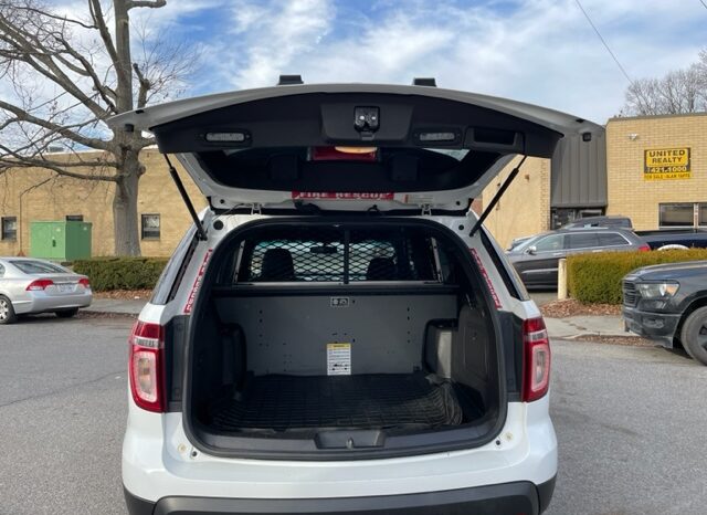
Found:
[{"label": "window with metal mesh partition above the SUV's grey cargo panel", "polygon": [[239,246],[235,282],[436,282],[441,276],[434,239],[415,230],[300,228],[267,235]]}]

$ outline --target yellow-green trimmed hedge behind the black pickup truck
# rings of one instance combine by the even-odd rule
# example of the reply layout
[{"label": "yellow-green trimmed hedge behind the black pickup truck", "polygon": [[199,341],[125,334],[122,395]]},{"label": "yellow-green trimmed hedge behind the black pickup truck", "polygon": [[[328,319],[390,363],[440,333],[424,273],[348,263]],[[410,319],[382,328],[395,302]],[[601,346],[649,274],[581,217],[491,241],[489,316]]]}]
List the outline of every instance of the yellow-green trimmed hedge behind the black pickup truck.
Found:
[{"label": "yellow-green trimmed hedge behind the black pickup truck", "polygon": [[707,260],[707,249],[578,254],[567,259],[567,281],[570,295],[583,304],[621,304],[621,280],[629,272],[697,260]]}]

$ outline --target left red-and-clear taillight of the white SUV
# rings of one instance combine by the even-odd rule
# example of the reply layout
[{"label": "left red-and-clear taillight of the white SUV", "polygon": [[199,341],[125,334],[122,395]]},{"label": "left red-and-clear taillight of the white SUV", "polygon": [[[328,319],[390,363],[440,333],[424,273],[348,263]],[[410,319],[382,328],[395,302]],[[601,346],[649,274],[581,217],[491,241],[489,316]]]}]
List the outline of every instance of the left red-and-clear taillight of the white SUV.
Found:
[{"label": "left red-and-clear taillight of the white SUV", "polygon": [[130,392],[135,403],[147,411],[161,412],[165,407],[162,335],[159,324],[138,320],[128,340]]}]

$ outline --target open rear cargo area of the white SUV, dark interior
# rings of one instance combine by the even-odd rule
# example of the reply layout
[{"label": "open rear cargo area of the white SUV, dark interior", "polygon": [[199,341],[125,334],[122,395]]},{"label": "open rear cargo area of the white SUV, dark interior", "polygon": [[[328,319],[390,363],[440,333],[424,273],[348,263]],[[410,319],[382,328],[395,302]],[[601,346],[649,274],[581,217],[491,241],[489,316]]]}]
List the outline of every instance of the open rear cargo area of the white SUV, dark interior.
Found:
[{"label": "open rear cargo area of the white SUV, dark interior", "polygon": [[198,438],[382,449],[492,425],[495,334],[465,249],[421,228],[267,225],[229,249],[190,341]]}]

